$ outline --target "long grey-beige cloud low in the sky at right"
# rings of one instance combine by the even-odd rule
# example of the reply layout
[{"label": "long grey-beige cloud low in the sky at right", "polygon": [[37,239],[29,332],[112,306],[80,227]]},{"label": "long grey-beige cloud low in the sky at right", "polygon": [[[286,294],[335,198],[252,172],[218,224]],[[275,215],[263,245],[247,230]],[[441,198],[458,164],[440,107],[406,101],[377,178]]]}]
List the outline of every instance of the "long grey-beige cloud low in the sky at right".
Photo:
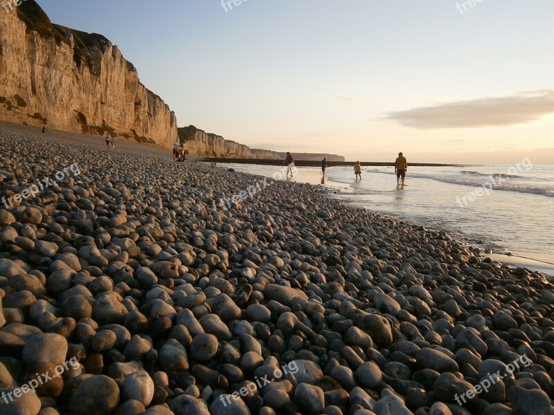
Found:
[{"label": "long grey-beige cloud low in the sky at right", "polygon": [[554,113],[554,89],[508,97],[449,102],[388,113],[384,118],[415,129],[508,127]]}]

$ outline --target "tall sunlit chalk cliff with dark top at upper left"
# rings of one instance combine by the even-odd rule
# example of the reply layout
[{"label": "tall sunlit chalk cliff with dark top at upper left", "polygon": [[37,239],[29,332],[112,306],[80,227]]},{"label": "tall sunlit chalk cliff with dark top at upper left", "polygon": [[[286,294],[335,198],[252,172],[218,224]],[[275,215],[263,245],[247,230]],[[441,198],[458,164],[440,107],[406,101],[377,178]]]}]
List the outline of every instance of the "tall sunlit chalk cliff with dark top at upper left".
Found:
[{"label": "tall sunlit chalk cliff with dark top at upper left", "polygon": [[34,0],[0,9],[0,119],[170,147],[177,120],[102,35],[51,24]]}]

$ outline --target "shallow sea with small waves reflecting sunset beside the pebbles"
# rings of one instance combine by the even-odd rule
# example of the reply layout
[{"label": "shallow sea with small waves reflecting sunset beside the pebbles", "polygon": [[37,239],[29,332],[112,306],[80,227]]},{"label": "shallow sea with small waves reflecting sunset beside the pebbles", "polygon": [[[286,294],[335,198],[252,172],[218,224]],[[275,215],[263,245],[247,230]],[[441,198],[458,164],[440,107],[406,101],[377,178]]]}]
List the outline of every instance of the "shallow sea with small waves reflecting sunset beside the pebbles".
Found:
[{"label": "shallow sea with small waves reflecting sunset beside the pebbles", "polygon": [[[287,180],[278,166],[220,164]],[[393,167],[296,167],[291,181],[312,183],[333,199],[445,230],[492,259],[554,277],[554,165],[410,167],[405,185]]]}]

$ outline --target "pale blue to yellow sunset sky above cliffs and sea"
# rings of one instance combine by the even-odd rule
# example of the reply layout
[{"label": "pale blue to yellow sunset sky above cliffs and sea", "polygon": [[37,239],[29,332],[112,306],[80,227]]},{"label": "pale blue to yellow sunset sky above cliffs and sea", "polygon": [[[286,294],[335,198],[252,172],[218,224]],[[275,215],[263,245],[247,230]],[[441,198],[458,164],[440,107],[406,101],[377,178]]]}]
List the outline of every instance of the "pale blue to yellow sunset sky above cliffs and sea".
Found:
[{"label": "pale blue to yellow sunset sky above cliffs and sea", "polygon": [[554,164],[552,0],[38,0],[190,124],[347,160]]}]

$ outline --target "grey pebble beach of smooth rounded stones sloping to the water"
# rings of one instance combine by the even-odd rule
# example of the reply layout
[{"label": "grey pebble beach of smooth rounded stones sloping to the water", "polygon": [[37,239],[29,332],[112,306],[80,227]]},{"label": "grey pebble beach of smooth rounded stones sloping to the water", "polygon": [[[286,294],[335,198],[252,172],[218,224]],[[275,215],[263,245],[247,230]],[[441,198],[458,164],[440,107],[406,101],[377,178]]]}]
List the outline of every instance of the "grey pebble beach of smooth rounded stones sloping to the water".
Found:
[{"label": "grey pebble beach of smooth rounded stones sloping to the water", "polygon": [[554,413],[544,275],[315,185],[33,131],[0,129],[0,414]]}]

